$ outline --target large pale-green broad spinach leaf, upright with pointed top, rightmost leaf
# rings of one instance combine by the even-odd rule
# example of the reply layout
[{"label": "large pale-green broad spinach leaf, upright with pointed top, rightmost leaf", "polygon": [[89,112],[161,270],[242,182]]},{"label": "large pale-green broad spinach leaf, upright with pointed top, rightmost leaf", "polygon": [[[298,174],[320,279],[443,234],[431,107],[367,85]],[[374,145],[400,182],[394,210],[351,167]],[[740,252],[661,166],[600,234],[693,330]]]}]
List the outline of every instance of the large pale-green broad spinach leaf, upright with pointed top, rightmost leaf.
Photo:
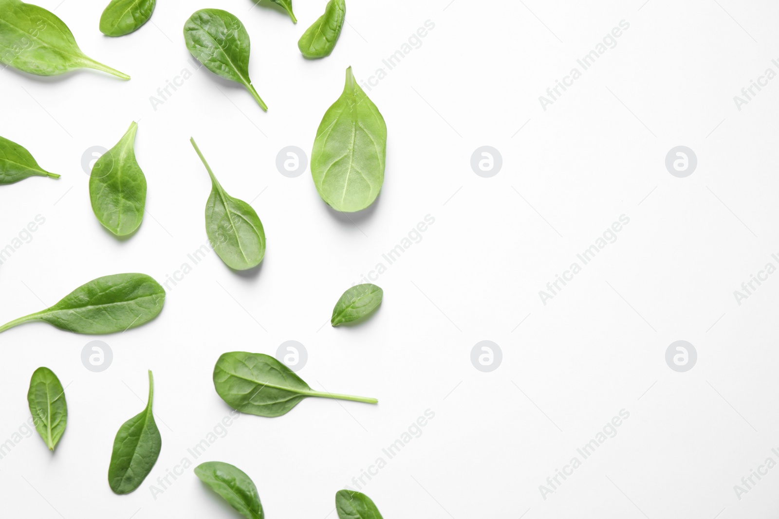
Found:
[{"label": "large pale-green broad spinach leaf, upright with pointed top, rightmost leaf", "polygon": [[384,183],[387,127],[379,109],[346,69],[344,93],[325,113],[311,153],[316,191],[333,209],[365,209]]}]

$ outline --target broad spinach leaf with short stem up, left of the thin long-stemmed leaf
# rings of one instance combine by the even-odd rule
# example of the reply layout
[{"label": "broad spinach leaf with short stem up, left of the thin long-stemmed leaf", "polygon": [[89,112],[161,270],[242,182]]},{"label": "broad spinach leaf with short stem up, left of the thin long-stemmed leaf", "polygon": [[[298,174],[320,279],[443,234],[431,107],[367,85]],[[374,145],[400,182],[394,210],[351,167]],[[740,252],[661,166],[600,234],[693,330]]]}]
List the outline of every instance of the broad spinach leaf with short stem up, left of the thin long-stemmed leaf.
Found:
[{"label": "broad spinach leaf with short stem up, left of the thin long-stemmed leaf", "polygon": [[90,199],[97,220],[116,236],[138,229],[146,207],[146,177],[136,162],[136,131],[130,124],[116,146],[100,156],[90,175]]}]

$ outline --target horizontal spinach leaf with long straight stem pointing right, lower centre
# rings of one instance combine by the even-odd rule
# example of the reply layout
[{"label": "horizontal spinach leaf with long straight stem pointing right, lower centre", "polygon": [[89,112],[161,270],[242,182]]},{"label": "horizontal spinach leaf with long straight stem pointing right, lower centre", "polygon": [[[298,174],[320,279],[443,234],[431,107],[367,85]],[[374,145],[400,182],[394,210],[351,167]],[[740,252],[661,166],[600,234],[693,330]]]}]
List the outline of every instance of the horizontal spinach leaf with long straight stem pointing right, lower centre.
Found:
[{"label": "horizontal spinach leaf with long straight stem pointing right, lower centre", "polygon": [[314,391],[286,365],[263,353],[223,353],[213,366],[213,387],[227,405],[256,416],[285,415],[308,397],[379,402],[375,398]]}]

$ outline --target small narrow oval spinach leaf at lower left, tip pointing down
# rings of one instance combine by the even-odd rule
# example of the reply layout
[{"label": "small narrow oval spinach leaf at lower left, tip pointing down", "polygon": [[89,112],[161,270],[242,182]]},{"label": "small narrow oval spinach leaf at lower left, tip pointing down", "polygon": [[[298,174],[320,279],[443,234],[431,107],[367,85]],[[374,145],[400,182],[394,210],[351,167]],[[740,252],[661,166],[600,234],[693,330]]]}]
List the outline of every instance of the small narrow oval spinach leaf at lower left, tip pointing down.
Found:
[{"label": "small narrow oval spinach leaf at lower left, tip pointing down", "polygon": [[65,402],[65,390],[62,389],[57,375],[48,367],[39,367],[30,379],[30,391],[27,391],[27,403],[33,416],[35,429],[46,442],[49,451],[65,432],[68,422],[68,404]]}]

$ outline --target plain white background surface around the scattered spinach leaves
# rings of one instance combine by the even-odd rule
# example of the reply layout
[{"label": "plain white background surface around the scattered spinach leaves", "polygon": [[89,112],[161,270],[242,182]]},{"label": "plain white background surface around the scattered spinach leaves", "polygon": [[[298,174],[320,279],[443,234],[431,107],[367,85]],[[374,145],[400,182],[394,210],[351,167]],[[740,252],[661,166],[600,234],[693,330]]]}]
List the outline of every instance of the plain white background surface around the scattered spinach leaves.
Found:
[{"label": "plain white background surface around the scattered spinach leaves", "polygon": [[[62,174],[0,188],[0,247],[36,215],[46,219],[0,266],[0,321],[100,275],[164,282],[189,262],[206,243],[210,192],[190,136],[224,188],[253,200],[267,252],[248,276],[210,254],[168,292],[160,317],[123,334],[35,323],[0,335],[0,442],[28,419],[38,366],[67,385],[69,406],[54,454],[35,433],[0,459],[4,515],[237,517],[191,468],[156,500],[150,485],[229,414],[211,381],[217,357],[273,355],[294,339],[308,349],[299,374],[312,387],[379,405],[308,399],[276,419],[242,416],[196,461],[247,472],[269,519],[336,517],[336,491],[425,409],[435,419],[421,437],[363,487],[388,519],[776,517],[779,468],[741,500],[733,486],[769,456],[779,461],[779,275],[740,306],[733,291],[768,261],[779,266],[770,258],[779,252],[779,79],[742,110],[733,96],[766,68],[779,72],[770,62],[779,6],[349,0],[333,54],[306,61],[297,40],[324,0],[294,0],[296,26],[266,2],[161,0],[153,23],[120,38],[98,31],[105,2],[39,2],[56,8],[86,54],[132,79],[0,72],[0,135]],[[267,113],[205,69],[153,109],[150,96],[192,69],[182,26],[205,7],[245,23]],[[616,47],[543,110],[538,96],[622,19],[629,29]],[[327,208],[308,171],[282,176],[277,153],[309,153],[344,69],[368,79],[426,20],[435,29],[421,47],[368,92],[389,131],[386,180],[368,214],[350,221]],[[114,146],[133,120],[147,214],[118,241],[93,216],[81,160],[91,146]],[[471,170],[485,145],[502,153],[491,178]],[[698,157],[686,178],[664,166],[679,145]],[[630,223],[618,240],[542,304],[538,291],[623,214]],[[435,223],[376,281],[379,311],[331,328],[340,293],[426,215]],[[114,352],[102,373],[81,362],[95,338]],[[492,373],[471,364],[485,339],[503,353]],[[687,373],[664,359],[679,339],[698,352]],[[135,493],[115,496],[111,445],[143,409],[147,369],[162,453]],[[539,486],[621,409],[630,415],[618,434],[543,499]]]}]

